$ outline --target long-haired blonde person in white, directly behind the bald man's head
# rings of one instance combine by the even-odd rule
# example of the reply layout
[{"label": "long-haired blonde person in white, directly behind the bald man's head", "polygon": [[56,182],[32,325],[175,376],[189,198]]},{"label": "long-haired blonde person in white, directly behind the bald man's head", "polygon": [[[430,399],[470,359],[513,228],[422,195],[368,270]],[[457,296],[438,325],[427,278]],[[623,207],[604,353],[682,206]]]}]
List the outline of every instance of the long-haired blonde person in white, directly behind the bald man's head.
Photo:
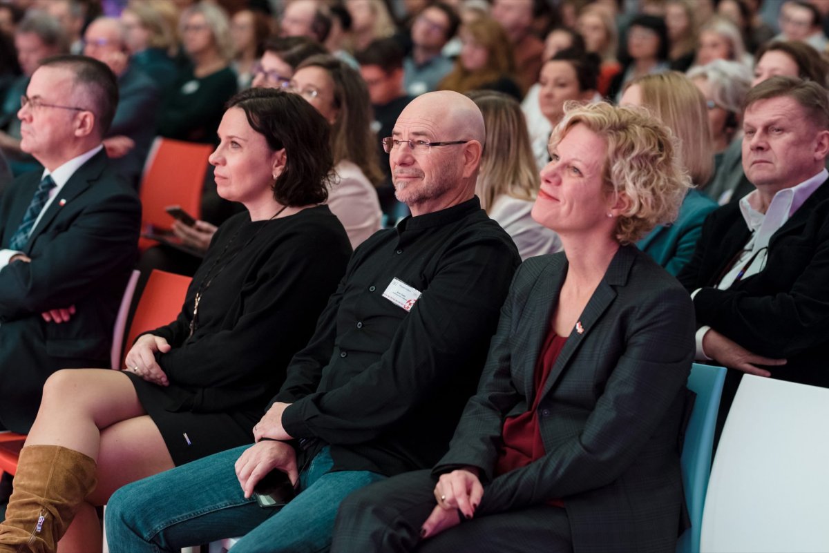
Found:
[{"label": "long-haired blonde person in white, directly behind the bald man's head", "polygon": [[560,251],[558,234],[530,214],[541,180],[521,105],[492,90],[467,95],[481,110],[487,130],[475,184],[481,207],[507,231],[522,260]]}]

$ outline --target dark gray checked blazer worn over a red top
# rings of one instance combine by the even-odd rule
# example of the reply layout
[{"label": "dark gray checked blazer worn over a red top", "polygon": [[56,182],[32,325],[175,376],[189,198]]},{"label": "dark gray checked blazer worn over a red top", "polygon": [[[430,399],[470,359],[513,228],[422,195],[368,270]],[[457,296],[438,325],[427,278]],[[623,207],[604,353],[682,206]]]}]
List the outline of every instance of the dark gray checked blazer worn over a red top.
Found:
[{"label": "dark gray checked blazer worn over a red top", "polygon": [[577,553],[674,551],[694,310],[676,279],[633,246],[613,257],[579,321],[583,332],[573,329],[541,391],[545,456],[493,478],[504,418],[533,403],[536,359],[567,267],[564,253],[519,267],[478,393],[435,471],[481,469],[477,517],[563,499]]}]

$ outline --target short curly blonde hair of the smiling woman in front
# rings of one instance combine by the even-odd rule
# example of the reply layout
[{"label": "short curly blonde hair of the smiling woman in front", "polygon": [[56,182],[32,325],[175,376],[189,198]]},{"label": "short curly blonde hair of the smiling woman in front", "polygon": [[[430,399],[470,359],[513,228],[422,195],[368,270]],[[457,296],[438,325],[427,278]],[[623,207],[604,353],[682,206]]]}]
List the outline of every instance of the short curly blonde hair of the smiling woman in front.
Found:
[{"label": "short curly blonde hair of the smiling woman in front", "polygon": [[671,129],[642,108],[570,101],[550,135],[550,151],[578,124],[607,142],[603,172],[608,194],[622,194],[630,200],[617,219],[619,243],[636,242],[657,225],[676,220],[692,185]]}]

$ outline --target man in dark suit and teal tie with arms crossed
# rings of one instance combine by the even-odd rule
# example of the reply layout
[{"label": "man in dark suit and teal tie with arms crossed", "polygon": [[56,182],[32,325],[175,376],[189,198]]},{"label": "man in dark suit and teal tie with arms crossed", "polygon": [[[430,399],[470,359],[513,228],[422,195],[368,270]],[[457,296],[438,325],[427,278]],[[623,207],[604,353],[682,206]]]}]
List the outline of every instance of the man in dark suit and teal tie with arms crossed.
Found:
[{"label": "man in dark suit and teal tie with arms crossed", "polygon": [[18,117],[45,170],[0,200],[0,422],[27,432],[61,368],[105,367],[136,257],[141,206],[101,138],[118,103],[109,68],[58,56],[32,75]]}]

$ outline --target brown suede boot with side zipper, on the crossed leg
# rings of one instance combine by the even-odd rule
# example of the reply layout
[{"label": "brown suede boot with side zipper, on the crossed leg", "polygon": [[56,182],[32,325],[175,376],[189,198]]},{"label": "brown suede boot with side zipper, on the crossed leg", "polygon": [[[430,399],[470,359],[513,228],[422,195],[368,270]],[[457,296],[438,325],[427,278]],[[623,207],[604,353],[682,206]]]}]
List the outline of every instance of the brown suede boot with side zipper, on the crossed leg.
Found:
[{"label": "brown suede boot with side zipper, on the crossed leg", "polygon": [[24,447],[0,524],[0,551],[54,553],[96,483],[95,459],[60,445]]}]

